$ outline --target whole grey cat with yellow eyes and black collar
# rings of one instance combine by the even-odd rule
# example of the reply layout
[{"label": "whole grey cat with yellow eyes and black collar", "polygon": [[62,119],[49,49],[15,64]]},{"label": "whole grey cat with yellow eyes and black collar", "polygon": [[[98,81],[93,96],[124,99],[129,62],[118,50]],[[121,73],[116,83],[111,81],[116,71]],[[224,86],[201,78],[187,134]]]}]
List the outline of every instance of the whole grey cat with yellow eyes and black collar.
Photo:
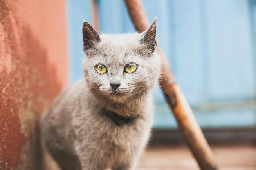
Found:
[{"label": "whole grey cat with yellow eyes and black collar", "polygon": [[84,22],[85,76],[58,96],[42,124],[62,170],[135,169],[153,124],[156,23],[143,33],[99,35]]}]

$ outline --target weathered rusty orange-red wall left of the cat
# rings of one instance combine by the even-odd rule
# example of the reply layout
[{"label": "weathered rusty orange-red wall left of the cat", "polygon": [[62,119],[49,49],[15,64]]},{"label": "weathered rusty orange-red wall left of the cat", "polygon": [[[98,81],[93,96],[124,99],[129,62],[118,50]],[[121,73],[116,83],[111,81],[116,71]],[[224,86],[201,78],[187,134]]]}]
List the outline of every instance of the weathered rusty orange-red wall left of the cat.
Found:
[{"label": "weathered rusty orange-red wall left of the cat", "polygon": [[0,170],[40,170],[39,119],[67,84],[65,0],[0,0]]}]

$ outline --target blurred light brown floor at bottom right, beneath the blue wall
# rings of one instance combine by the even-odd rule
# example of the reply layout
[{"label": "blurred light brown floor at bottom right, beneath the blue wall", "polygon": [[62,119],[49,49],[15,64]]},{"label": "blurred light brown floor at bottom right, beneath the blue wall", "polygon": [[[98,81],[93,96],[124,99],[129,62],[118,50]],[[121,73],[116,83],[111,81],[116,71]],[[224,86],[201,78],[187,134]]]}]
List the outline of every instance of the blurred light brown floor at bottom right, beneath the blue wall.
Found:
[{"label": "blurred light brown floor at bottom right, beneath the blue wall", "polygon": [[[256,170],[256,146],[212,146],[220,170]],[[137,170],[199,170],[186,146],[151,146]]]}]

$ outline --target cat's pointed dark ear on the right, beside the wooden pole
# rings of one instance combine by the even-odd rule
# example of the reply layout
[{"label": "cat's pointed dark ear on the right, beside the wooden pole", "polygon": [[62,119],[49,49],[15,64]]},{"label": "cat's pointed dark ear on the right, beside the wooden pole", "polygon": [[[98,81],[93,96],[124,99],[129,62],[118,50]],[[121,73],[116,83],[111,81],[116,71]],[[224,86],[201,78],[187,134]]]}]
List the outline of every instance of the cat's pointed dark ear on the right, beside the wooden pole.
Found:
[{"label": "cat's pointed dark ear on the right, beside the wooden pole", "polygon": [[155,18],[151,26],[142,33],[142,38],[140,40],[142,44],[146,44],[147,48],[150,50],[151,53],[155,51],[155,48],[157,46],[156,31],[157,17]]}]

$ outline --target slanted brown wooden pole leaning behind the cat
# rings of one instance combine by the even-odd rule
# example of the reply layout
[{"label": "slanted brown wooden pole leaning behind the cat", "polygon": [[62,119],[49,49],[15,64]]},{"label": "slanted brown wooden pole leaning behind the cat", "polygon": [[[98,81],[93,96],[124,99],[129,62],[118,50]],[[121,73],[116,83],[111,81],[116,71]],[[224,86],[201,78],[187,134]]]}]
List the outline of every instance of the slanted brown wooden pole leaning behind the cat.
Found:
[{"label": "slanted brown wooden pole leaning behind the cat", "polygon": [[[125,0],[125,2],[136,30],[139,32],[146,30],[150,26],[150,21],[141,0]],[[218,170],[213,160],[211,148],[195,119],[186,97],[182,93],[180,86],[175,82],[171,68],[159,46],[157,46],[157,52],[161,56],[163,69],[159,83],[186,143],[201,170]]]}]

